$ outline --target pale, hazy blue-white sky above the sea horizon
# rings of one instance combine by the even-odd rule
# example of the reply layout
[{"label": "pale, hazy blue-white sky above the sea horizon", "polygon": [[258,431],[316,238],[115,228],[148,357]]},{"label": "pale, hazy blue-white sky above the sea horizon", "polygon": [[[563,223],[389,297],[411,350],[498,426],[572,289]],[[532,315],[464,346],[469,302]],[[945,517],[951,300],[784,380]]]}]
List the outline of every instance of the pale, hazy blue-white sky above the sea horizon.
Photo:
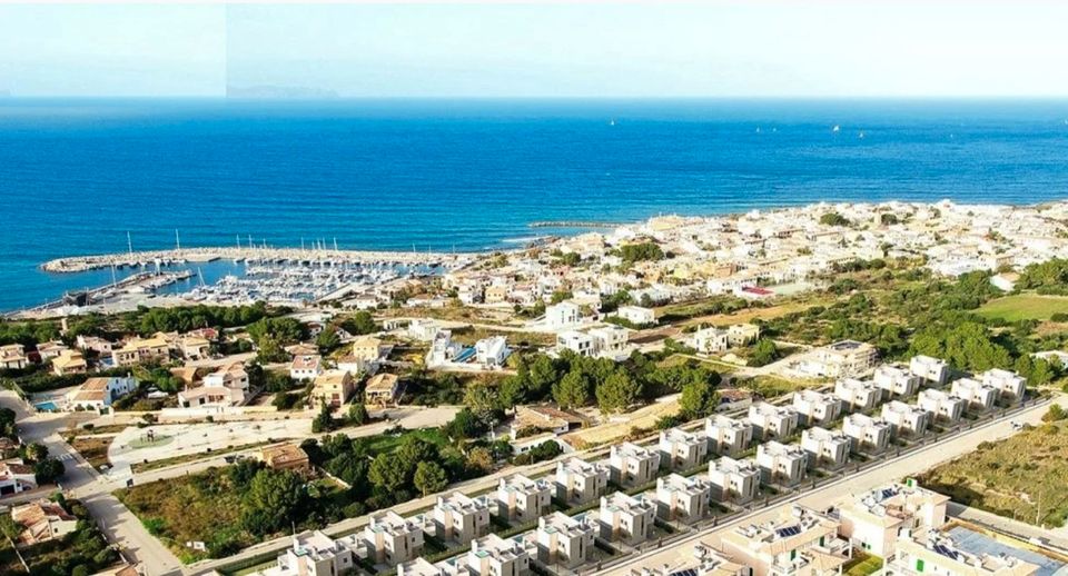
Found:
[{"label": "pale, hazy blue-white sky above the sea horizon", "polygon": [[0,4],[0,93],[1065,97],[1068,2]]}]

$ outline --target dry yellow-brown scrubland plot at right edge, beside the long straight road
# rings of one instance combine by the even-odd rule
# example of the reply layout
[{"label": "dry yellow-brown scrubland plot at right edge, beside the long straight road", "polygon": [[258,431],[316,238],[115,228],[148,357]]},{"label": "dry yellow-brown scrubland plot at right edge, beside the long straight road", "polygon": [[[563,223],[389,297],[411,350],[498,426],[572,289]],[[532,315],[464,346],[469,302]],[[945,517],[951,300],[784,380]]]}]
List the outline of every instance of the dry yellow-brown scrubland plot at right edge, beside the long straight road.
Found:
[{"label": "dry yellow-brown scrubland plot at right edge, beside the long straight road", "polygon": [[1068,516],[1068,426],[1030,428],[924,474],[920,481],[953,500],[1035,525]]}]

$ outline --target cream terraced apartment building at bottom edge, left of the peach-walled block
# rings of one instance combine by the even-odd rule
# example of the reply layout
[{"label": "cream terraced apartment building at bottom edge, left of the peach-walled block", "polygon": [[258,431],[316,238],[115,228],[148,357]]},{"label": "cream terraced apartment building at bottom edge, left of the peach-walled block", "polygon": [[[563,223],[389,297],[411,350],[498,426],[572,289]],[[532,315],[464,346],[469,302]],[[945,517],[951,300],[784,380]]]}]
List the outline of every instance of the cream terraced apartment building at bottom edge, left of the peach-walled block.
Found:
[{"label": "cream terraced apartment building at bottom edge, left of the peach-walled block", "polygon": [[770,523],[734,528],[720,542],[724,554],[751,567],[753,576],[830,576],[852,557],[838,528],[838,520],[793,506]]}]

